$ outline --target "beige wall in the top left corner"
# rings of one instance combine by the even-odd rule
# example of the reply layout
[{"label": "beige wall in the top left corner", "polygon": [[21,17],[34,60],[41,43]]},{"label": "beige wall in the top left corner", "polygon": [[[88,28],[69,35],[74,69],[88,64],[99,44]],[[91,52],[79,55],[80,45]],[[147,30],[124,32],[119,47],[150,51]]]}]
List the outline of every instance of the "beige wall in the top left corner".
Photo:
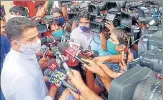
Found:
[{"label": "beige wall in the top left corner", "polygon": [[13,1],[1,1],[1,5],[4,5],[6,12],[6,19],[10,17],[9,9],[13,6]]}]

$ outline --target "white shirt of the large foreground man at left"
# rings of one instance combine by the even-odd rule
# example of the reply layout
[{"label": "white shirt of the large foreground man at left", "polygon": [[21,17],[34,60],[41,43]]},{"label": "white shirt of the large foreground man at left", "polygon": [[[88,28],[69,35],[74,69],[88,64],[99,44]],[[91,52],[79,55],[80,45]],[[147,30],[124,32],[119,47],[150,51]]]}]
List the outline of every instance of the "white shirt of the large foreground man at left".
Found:
[{"label": "white shirt of the large foreground man at left", "polygon": [[7,54],[1,88],[6,100],[53,100],[35,55],[25,55],[13,49]]}]

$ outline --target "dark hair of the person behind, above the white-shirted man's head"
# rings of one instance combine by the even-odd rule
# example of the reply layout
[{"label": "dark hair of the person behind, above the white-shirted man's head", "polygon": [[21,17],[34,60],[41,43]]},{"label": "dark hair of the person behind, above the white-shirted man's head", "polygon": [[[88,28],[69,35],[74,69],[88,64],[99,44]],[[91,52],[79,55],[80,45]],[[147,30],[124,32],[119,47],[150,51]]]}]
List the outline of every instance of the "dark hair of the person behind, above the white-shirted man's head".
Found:
[{"label": "dark hair of the person behind, above the white-shirted man's head", "polygon": [[23,6],[13,6],[10,8],[9,12],[19,13],[21,16],[26,16],[28,13],[27,9]]}]

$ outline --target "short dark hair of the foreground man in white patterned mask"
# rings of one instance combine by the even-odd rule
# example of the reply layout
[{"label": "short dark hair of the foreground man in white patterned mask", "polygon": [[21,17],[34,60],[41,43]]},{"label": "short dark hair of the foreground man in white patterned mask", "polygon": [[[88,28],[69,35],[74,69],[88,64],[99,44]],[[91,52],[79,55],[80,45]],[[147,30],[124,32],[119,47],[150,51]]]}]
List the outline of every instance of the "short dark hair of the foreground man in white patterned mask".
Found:
[{"label": "short dark hair of the foreground man in white patterned mask", "polygon": [[6,24],[6,34],[10,41],[18,40],[25,30],[36,27],[34,21],[25,17],[14,17]]}]

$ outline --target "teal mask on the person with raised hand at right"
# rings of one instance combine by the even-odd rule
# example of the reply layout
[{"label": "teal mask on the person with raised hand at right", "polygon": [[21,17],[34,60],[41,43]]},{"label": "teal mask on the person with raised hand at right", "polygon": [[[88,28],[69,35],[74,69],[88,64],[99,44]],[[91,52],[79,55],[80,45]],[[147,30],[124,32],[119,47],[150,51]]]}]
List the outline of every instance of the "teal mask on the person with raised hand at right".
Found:
[{"label": "teal mask on the person with raised hand at right", "polygon": [[118,44],[114,44],[110,39],[107,40],[107,49],[109,54],[119,54],[116,50],[116,46],[118,46]]}]

